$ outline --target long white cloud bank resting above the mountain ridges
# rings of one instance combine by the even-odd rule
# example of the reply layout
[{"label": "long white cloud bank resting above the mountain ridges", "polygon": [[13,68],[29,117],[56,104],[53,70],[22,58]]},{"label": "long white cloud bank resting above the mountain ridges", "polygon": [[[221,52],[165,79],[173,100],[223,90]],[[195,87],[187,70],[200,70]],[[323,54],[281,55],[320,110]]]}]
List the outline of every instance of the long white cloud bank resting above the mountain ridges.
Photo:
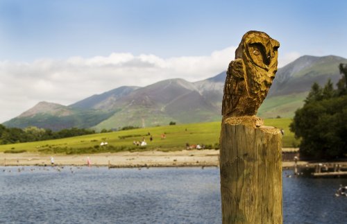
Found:
[{"label": "long white cloud bank resting above the mountain ridges", "polygon": [[[145,86],[168,78],[203,80],[227,69],[235,46],[210,55],[160,58],[156,55],[112,53],[93,58],[0,62],[0,122],[21,114],[40,101],[69,105],[122,85]],[[298,58],[282,57],[280,65]]]}]

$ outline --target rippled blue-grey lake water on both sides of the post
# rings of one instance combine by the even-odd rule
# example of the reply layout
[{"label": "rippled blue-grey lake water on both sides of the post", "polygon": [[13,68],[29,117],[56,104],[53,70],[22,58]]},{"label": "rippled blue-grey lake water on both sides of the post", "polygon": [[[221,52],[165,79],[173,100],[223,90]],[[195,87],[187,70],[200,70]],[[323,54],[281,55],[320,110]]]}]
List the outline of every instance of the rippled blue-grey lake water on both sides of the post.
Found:
[{"label": "rippled blue-grey lake water on both sides of the post", "polygon": [[[0,223],[221,223],[218,168],[0,168]],[[347,223],[347,179],[289,174],[284,223]]]}]

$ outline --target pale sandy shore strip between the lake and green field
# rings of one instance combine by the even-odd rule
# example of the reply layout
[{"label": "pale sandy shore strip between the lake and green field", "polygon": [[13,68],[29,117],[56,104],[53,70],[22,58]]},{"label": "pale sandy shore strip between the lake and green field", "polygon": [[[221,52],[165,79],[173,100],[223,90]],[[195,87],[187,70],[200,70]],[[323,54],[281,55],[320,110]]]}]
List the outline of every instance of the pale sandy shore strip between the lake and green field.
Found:
[{"label": "pale sandy shore strip between the lake and green field", "polygon": [[[143,151],[98,153],[89,155],[42,155],[40,153],[0,153],[0,166],[51,166],[51,156],[56,166],[169,167],[169,166],[219,166],[219,150]],[[307,162],[300,161],[303,166]],[[294,162],[282,162],[283,167]]]}]

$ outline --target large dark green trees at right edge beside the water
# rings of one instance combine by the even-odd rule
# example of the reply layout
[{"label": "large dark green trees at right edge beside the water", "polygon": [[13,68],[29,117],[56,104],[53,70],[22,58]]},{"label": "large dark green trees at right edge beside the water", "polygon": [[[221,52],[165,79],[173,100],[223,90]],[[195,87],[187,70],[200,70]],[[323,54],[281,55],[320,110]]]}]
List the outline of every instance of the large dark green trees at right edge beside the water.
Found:
[{"label": "large dark green trees at right edge beside the water", "polygon": [[321,87],[314,83],[302,108],[296,110],[290,129],[301,139],[303,155],[332,159],[347,155],[347,64],[335,89],[332,81]]}]

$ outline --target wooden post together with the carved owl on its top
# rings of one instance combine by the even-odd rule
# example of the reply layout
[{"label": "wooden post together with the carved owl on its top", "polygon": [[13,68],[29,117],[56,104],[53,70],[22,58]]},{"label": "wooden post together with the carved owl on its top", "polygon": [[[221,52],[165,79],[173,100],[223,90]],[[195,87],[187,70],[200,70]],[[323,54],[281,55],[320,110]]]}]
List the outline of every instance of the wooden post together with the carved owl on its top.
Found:
[{"label": "wooden post together with the carved owl on its top", "polygon": [[221,124],[223,223],[282,223],[282,135],[255,117],[277,71],[279,42],[249,31],[230,62]]}]

